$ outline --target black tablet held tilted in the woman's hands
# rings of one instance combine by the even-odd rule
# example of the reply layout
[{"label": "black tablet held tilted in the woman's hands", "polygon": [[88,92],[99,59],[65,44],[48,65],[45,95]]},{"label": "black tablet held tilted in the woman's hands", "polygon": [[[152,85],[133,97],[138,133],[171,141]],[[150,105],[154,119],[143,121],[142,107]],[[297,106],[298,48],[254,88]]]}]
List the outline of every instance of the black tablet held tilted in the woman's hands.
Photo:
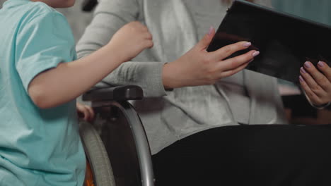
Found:
[{"label": "black tablet held tilted in the woman's hands", "polygon": [[250,48],[230,57],[256,49],[260,55],[248,70],[298,83],[300,68],[306,61],[331,62],[331,27],[289,13],[234,1],[228,8],[207,51],[239,41],[252,42]]}]

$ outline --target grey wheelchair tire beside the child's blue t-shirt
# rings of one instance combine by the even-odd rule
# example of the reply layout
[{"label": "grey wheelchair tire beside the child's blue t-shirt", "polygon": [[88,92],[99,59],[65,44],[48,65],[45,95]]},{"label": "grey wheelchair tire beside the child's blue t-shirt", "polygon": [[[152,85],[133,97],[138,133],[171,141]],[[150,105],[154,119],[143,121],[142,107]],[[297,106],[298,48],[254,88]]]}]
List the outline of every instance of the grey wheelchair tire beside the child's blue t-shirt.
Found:
[{"label": "grey wheelchair tire beside the child's blue t-shirt", "polygon": [[93,172],[95,186],[115,186],[115,179],[107,151],[98,132],[90,123],[81,122],[79,132]]}]

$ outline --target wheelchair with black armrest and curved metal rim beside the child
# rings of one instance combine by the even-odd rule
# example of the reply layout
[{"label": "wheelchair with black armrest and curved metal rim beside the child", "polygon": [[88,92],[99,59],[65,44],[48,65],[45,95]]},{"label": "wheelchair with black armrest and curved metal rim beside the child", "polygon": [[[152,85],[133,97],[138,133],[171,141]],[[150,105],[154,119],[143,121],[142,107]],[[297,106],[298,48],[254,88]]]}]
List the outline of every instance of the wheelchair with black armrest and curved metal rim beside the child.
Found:
[{"label": "wheelchair with black armrest and curved metal rim beside the child", "polygon": [[153,186],[151,151],[138,113],[129,100],[142,99],[141,87],[95,87],[83,94],[91,101],[93,124],[80,123],[80,135],[95,186]]}]

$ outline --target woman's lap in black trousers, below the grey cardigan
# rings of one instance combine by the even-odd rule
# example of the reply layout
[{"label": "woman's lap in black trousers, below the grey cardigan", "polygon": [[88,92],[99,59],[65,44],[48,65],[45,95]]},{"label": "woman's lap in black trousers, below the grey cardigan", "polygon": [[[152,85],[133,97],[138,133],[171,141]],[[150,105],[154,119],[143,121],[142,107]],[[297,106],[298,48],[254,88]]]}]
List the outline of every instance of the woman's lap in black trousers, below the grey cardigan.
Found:
[{"label": "woman's lap in black trousers, below the grey cardigan", "polygon": [[152,158],[157,185],[331,185],[330,144],[330,125],[239,125],[199,132]]}]

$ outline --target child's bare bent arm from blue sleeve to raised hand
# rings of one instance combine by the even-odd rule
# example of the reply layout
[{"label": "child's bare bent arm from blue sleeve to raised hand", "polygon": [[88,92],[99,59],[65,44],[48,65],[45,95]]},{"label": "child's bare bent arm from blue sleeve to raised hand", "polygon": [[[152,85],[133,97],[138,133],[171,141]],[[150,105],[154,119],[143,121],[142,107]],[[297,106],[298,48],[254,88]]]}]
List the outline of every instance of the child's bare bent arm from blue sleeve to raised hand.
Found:
[{"label": "child's bare bent arm from blue sleeve to raised hand", "polygon": [[129,23],[93,54],[77,61],[60,63],[57,68],[37,75],[28,86],[29,95],[42,109],[59,106],[79,97],[121,63],[152,46],[149,30],[141,23]]}]

